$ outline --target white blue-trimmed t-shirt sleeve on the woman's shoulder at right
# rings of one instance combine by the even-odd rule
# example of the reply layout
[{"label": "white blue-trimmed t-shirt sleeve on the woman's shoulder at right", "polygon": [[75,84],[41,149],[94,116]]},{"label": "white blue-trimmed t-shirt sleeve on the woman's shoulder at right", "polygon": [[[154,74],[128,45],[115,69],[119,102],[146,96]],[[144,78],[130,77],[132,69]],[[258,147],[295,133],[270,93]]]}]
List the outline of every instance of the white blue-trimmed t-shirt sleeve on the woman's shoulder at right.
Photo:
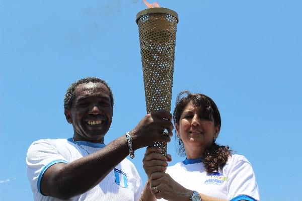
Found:
[{"label": "white blue-trimmed t-shirt sleeve on the woman's shoulder at right", "polygon": [[[250,162],[241,155],[233,155],[228,174],[228,200],[240,200],[241,196],[248,196],[251,199],[259,200],[259,190],[255,173]],[[246,200],[246,199],[245,199]]]}]

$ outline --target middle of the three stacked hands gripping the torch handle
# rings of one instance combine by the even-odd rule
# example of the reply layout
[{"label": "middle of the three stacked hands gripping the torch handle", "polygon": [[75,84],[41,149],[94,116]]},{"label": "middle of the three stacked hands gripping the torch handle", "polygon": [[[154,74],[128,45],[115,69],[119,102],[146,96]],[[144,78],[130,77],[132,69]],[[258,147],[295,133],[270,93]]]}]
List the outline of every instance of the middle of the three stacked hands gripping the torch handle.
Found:
[{"label": "middle of the three stacked hands gripping the torch handle", "polygon": [[145,155],[142,159],[143,169],[150,178],[152,173],[165,172],[168,166],[168,161],[171,161],[171,155],[167,154],[166,157],[161,153],[162,149],[158,147],[148,147],[145,151]]}]

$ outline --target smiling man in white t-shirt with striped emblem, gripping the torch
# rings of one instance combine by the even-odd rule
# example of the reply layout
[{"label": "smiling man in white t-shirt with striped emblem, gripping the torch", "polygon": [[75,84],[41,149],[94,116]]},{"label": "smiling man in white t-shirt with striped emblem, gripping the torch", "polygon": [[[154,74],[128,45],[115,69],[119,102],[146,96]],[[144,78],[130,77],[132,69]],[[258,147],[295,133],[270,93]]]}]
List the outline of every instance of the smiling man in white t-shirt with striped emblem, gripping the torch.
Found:
[{"label": "smiling man in white t-shirt with striped emblem, gripping the torch", "polygon": [[[27,152],[27,175],[34,200],[138,200],[142,191],[134,165],[125,157],[156,141],[169,142],[172,116],[146,115],[126,135],[104,145],[113,115],[113,95],[104,80],[86,77],[72,83],[64,114],[73,126],[69,139],[34,142]],[[169,136],[162,135],[167,128]]]}]

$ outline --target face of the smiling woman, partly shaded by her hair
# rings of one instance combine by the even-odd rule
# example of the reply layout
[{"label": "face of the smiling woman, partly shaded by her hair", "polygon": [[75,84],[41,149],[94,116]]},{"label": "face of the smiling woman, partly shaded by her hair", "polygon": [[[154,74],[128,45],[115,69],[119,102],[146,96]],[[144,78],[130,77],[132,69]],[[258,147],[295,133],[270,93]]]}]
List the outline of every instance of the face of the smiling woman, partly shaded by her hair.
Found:
[{"label": "face of the smiling woman, partly shaded by her hair", "polygon": [[219,134],[220,125],[214,125],[212,116],[211,120],[201,117],[201,112],[189,102],[180,116],[179,124],[175,124],[176,131],[184,143],[187,157],[190,152],[203,152]]}]

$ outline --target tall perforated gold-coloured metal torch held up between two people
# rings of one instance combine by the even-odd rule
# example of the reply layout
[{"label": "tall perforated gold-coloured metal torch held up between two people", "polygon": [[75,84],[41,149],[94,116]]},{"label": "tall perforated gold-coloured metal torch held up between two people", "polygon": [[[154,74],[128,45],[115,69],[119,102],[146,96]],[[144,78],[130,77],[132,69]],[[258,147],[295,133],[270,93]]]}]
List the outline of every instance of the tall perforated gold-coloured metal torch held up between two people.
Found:
[{"label": "tall perforated gold-coloured metal torch held up between two people", "polygon": [[[171,110],[177,23],[177,13],[166,8],[149,7],[136,15],[147,113]],[[167,143],[153,146],[166,155]]]}]

